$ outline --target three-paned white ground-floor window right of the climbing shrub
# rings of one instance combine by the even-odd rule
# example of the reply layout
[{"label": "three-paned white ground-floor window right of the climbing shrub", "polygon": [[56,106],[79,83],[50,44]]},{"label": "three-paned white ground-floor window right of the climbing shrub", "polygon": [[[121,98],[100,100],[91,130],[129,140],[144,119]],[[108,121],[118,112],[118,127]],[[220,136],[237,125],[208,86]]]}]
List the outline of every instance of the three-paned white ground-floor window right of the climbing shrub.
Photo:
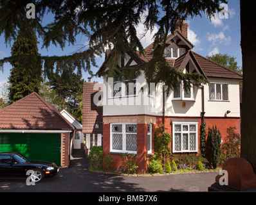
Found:
[{"label": "three-paned white ground-floor window right of the climbing shrub", "polygon": [[197,152],[197,122],[172,122],[172,152]]}]

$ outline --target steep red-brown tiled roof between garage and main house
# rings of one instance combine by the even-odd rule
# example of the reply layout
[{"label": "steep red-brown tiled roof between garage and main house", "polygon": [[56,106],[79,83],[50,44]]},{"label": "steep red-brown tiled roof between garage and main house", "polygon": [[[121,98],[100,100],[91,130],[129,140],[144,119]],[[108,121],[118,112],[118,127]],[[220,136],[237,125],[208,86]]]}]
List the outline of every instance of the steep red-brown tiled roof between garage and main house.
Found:
[{"label": "steep red-brown tiled roof between garage and main house", "polygon": [[[83,133],[103,133],[103,106],[96,106],[93,97],[98,90],[103,90],[103,83],[86,83],[83,88]],[[98,124],[99,128],[95,127]]]}]

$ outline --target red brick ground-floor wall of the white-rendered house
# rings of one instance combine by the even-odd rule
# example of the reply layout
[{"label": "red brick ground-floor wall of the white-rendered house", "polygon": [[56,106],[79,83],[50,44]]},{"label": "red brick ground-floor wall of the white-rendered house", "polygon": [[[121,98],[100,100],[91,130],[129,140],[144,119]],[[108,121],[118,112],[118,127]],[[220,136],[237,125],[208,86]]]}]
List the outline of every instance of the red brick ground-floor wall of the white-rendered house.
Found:
[{"label": "red brick ground-floor wall of the white-rendered house", "polygon": [[[126,121],[125,121],[126,119]],[[110,123],[112,122],[137,122],[137,154],[138,154],[138,159],[136,165],[139,166],[138,168],[138,173],[145,174],[147,172],[147,165],[148,162],[146,160],[147,158],[147,122],[148,120],[151,121],[152,117],[140,117],[141,120],[136,120],[139,119],[138,116],[130,116],[130,117],[107,117],[105,119],[104,125],[103,125],[103,141],[102,141],[102,146],[104,150],[104,156],[110,155],[113,160],[114,164],[112,167],[113,171],[118,171],[120,166],[122,166],[122,157],[120,156],[120,153],[113,153],[110,152]],[[144,119],[144,120],[142,120]],[[145,120],[147,119],[147,120]],[[198,133],[198,138],[197,138],[197,144],[198,144],[198,150],[197,153],[199,153],[199,135],[200,135],[200,126],[201,126],[201,117],[166,117],[165,118],[165,131],[170,133],[172,135],[172,120],[196,120],[198,121],[198,126],[197,126],[197,133]],[[143,122],[143,123],[141,123]],[[162,117],[154,117],[154,124],[152,124],[152,152],[154,153],[154,131],[158,125],[162,123]],[[214,117],[206,117],[205,118],[206,122],[206,130],[208,131],[208,126],[217,126],[217,128],[221,131],[221,136],[224,140],[226,136],[226,129],[228,127],[237,127],[237,133],[240,133],[240,118],[229,118],[229,117],[221,117],[221,118],[214,118]],[[170,142],[170,149],[172,150],[172,142]]]}]

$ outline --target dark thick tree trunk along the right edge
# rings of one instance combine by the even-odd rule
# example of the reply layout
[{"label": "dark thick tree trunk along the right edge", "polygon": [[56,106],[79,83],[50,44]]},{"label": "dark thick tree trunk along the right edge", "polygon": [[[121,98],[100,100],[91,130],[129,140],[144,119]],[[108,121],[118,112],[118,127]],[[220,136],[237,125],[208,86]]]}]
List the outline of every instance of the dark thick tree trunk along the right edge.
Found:
[{"label": "dark thick tree trunk along the right edge", "polygon": [[240,1],[242,49],[241,157],[256,173],[256,18],[253,1]]}]

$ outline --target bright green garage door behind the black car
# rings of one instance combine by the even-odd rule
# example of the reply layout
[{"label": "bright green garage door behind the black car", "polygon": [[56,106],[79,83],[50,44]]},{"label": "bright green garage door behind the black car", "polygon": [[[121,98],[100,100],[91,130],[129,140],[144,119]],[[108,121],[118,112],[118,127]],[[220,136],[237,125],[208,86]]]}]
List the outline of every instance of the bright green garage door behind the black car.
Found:
[{"label": "bright green garage door behind the black car", "polygon": [[20,152],[33,160],[53,161],[60,166],[60,134],[0,133],[0,152]]}]

